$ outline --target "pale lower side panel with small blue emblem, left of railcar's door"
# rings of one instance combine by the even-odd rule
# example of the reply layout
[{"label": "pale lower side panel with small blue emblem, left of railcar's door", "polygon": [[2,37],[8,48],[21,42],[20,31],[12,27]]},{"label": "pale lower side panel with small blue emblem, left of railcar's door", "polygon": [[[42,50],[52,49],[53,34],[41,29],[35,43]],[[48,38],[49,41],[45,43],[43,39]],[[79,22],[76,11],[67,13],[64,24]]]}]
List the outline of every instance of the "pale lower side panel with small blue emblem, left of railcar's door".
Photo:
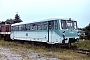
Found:
[{"label": "pale lower side panel with small blue emblem, left of railcar's door", "polygon": [[11,32],[11,39],[47,42],[48,32],[47,31],[14,31]]}]

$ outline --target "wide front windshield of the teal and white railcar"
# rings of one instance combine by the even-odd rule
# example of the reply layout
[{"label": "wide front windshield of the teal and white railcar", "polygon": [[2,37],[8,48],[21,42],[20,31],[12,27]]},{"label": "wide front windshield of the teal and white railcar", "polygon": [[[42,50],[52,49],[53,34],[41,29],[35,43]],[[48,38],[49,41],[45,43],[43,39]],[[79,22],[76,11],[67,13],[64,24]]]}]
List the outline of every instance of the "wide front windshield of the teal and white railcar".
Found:
[{"label": "wide front windshield of the teal and white railcar", "polygon": [[62,29],[77,29],[77,22],[71,20],[61,20]]}]

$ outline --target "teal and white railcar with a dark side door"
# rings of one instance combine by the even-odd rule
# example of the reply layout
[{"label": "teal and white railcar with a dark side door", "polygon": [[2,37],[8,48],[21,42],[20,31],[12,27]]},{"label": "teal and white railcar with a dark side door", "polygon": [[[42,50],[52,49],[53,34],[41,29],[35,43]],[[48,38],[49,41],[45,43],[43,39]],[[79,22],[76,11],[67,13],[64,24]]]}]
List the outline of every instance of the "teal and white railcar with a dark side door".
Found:
[{"label": "teal and white railcar with a dark side door", "polygon": [[46,42],[48,44],[67,44],[78,41],[77,21],[49,19],[26,24],[13,24],[10,38]]}]

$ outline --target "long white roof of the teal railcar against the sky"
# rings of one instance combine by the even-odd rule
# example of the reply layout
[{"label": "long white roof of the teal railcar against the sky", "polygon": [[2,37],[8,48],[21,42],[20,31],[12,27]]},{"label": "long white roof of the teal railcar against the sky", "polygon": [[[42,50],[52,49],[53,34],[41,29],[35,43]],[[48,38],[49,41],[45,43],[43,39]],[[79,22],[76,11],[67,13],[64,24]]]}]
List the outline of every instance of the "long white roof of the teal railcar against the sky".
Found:
[{"label": "long white roof of the teal railcar against the sky", "polygon": [[44,22],[44,21],[50,21],[50,20],[69,20],[69,18],[55,18],[54,17],[54,18],[48,18],[48,19],[37,19],[37,20],[31,20],[27,22],[15,23],[15,24],[12,24],[12,26],[20,25],[20,24],[35,23],[35,22]]}]

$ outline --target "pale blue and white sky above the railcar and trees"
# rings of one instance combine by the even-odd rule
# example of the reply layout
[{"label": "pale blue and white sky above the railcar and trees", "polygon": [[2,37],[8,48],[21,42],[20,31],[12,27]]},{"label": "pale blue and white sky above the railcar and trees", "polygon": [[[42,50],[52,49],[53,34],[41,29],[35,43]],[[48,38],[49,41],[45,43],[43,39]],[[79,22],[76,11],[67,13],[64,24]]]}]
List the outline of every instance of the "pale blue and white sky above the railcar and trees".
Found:
[{"label": "pale blue and white sky above the railcar and trees", "polygon": [[17,12],[23,22],[65,17],[83,28],[90,23],[90,0],[0,0],[0,21],[14,19]]}]

